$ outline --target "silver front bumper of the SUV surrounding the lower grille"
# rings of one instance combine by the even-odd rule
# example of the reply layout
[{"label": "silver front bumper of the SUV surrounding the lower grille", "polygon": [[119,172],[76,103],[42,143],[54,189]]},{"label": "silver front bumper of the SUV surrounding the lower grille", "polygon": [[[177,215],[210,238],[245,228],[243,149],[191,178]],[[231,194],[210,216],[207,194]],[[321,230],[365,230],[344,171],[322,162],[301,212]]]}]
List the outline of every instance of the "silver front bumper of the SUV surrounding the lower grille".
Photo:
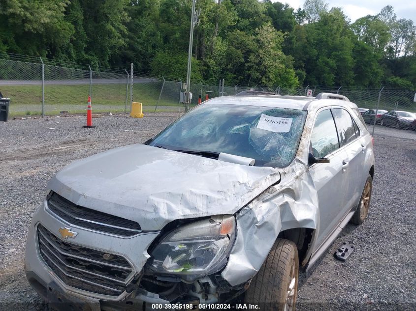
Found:
[{"label": "silver front bumper of the SUV surrounding the lower grille", "polygon": [[[41,208],[35,213],[32,219],[32,225],[29,230],[26,244],[25,270],[26,275],[32,287],[42,295],[49,303],[61,304],[59,310],[65,309],[69,305],[69,301],[76,305],[82,304],[83,310],[102,310],[102,305],[111,303],[121,303],[131,300],[131,296],[139,296],[143,302],[163,302],[158,296],[151,293],[141,293],[137,295],[133,291],[134,286],[131,285],[135,278],[139,277],[143,266],[145,265],[149,254],[147,248],[157,237],[159,232],[140,233],[135,236],[124,238],[66,224],[47,211],[47,203],[43,203]],[[75,239],[62,239],[64,242],[79,245],[81,247],[98,250],[108,254],[117,254],[125,257],[132,268],[131,274],[126,279],[126,290],[117,296],[103,295],[79,288],[69,286],[64,283],[60,277],[48,266],[39,252],[39,240],[37,237],[37,226],[45,227],[49,232],[59,236],[59,229],[62,227],[70,227],[78,234]],[[69,241],[70,240],[70,241]],[[130,285],[130,286],[128,286]],[[139,303],[134,299],[135,304]],[[137,307],[137,306],[136,306]],[[126,308],[123,308],[126,309]],[[140,309],[140,308],[135,308]]]}]

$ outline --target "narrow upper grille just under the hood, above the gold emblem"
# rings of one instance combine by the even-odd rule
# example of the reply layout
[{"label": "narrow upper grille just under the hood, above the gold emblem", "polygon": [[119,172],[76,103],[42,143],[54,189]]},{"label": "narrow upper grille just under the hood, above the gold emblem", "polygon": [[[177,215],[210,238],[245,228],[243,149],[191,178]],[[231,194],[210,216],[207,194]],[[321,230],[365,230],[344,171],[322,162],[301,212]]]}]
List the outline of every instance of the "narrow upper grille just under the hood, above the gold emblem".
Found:
[{"label": "narrow upper grille just under the hood, above the gold emblem", "polygon": [[120,236],[132,236],[141,232],[135,221],[82,207],[57,193],[48,198],[48,209],[73,226]]}]

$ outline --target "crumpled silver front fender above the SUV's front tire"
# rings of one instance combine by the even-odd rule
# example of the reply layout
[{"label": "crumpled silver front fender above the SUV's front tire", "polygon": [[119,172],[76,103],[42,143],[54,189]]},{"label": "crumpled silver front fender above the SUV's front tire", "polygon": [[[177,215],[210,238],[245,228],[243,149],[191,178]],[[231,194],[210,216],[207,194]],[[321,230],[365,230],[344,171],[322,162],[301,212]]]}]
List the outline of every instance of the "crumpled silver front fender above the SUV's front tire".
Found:
[{"label": "crumpled silver front fender above the SUV's front tire", "polygon": [[282,179],[237,214],[237,238],[222,277],[231,285],[256,275],[280,231],[319,228],[318,196],[307,166],[295,160]]}]

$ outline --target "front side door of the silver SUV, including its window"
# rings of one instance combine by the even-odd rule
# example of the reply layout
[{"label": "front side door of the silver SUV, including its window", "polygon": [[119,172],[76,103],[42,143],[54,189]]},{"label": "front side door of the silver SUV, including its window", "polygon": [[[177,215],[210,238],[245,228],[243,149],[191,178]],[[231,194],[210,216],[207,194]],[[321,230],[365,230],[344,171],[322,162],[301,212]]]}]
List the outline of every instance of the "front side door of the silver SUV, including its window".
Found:
[{"label": "front side door of the silver SUV, including its window", "polygon": [[318,192],[320,226],[318,245],[323,243],[339,224],[338,215],[344,209],[347,189],[348,155],[339,148],[335,121],[331,110],[321,110],[315,119],[311,136],[311,152],[316,158],[328,158],[329,163],[317,163],[309,170]]}]

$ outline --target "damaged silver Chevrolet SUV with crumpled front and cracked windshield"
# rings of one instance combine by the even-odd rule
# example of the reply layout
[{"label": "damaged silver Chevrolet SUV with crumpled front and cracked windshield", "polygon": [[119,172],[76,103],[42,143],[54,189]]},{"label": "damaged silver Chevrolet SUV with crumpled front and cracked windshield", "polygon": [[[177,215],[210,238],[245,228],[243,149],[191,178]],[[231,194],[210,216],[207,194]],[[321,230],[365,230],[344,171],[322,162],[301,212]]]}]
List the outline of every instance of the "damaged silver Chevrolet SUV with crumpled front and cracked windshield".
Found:
[{"label": "damaged silver Chevrolet SUV with crumpled front and cracked windshield", "polygon": [[337,94],[211,99],[60,171],[27,278],[58,309],[294,310],[298,271],[367,215],[372,144]]}]

